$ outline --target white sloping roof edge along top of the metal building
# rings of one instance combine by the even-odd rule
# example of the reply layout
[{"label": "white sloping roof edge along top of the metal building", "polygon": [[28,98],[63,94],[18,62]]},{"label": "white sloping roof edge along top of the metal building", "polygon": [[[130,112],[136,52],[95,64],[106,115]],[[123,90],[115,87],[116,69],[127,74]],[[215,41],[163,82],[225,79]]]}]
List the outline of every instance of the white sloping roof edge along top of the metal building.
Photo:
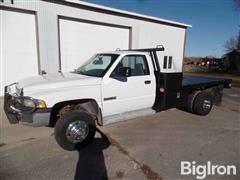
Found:
[{"label": "white sloping roof edge along top of the metal building", "polygon": [[84,1],[80,1],[80,0],[61,0],[61,1],[50,1],[50,2],[68,3],[68,4],[72,4],[72,5],[79,5],[81,7],[87,8],[87,9],[95,9],[95,10],[98,10],[98,11],[105,11],[105,12],[108,12],[110,14],[116,14],[116,15],[121,15],[121,16],[124,16],[124,17],[135,18],[135,19],[142,19],[142,20],[146,20],[146,21],[150,21],[150,22],[162,23],[162,24],[177,26],[177,27],[181,27],[181,28],[192,27],[191,25],[185,24],[185,23],[166,20],[166,19],[153,17],[153,16],[147,16],[147,15],[143,15],[143,14],[139,14],[139,13],[133,13],[133,12],[125,11],[125,10],[106,7],[106,6],[103,6],[103,5],[97,5],[97,4],[84,2]]}]

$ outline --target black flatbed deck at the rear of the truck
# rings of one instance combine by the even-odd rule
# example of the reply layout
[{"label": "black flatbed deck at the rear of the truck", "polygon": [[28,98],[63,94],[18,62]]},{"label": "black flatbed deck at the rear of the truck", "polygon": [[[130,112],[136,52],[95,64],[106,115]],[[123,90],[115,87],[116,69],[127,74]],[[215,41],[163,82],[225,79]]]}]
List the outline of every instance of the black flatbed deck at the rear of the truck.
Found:
[{"label": "black flatbed deck at the rear of the truck", "polygon": [[207,76],[188,76],[183,75],[182,87],[183,89],[198,89],[198,88],[209,88],[214,86],[223,85],[229,87],[232,83],[231,79],[207,77]]}]

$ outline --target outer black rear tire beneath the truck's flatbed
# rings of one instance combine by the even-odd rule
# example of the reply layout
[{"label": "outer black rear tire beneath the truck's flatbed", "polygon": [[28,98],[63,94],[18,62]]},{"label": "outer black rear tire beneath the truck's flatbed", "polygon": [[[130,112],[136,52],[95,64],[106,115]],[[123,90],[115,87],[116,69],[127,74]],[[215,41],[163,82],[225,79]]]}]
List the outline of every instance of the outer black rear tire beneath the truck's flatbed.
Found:
[{"label": "outer black rear tire beneath the truck's flatbed", "polygon": [[212,94],[208,92],[201,92],[194,99],[193,112],[201,116],[206,116],[211,111],[212,106]]}]

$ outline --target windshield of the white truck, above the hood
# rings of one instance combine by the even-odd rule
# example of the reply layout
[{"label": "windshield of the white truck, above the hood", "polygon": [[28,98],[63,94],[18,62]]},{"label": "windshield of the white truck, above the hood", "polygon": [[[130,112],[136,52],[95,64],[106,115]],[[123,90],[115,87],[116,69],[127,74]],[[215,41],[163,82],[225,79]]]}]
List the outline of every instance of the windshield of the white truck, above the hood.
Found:
[{"label": "windshield of the white truck, above the hood", "polygon": [[75,73],[103,77],[118,57],[118,54],[96,54],[86,64],[76,69]]}]

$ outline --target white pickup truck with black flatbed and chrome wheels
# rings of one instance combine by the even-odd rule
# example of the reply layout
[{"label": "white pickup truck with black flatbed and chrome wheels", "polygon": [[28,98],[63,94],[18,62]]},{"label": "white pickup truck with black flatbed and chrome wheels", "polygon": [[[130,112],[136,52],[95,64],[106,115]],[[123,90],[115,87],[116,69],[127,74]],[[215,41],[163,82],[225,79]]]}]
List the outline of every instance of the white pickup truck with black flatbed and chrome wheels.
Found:
[{"label": "white pickup truck with black flatbed and chrome wheels", "polygon": [[6,86],[5,113],[10,123],[55,127],[56,141],[66,150],[87,145],[96,126],[113,122],[112,116],[169,108],[207,115],[231,80],[163,73],[174,62],[161,65],[158,51],[164,48],[100,53],[73,72]]}]

